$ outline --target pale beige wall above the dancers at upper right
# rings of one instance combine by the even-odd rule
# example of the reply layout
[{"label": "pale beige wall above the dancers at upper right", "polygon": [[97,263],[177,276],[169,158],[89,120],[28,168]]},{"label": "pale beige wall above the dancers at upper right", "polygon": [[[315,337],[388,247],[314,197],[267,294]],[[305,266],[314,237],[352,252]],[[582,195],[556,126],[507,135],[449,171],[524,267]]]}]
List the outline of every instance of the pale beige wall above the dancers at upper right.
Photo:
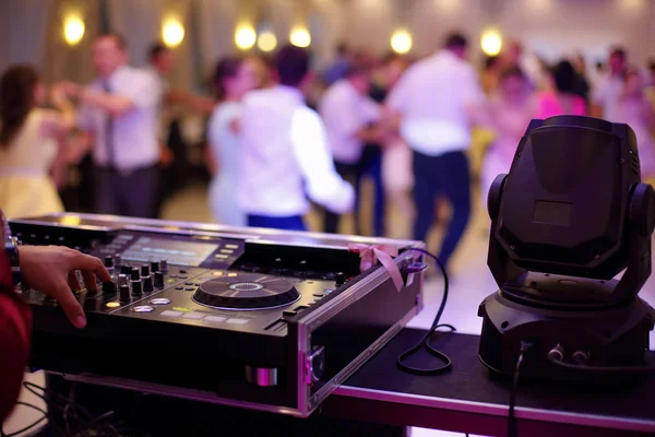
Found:
[{"label": "pale beige wall above the dancers at upper right", "polygon": [[[344,7],[343,37],[354,47],[389,50],[395,27],[406,26],[414,50],[422,56],[439,48],[450,31],[462,31],[479,54],[479,36],[496,26],[547,59],[582,50],[590,60],[604,58],[622,44],[643,66],[655,56],[655,0],[336,0]],[[335,38],[338,39],[338,38]]]}]

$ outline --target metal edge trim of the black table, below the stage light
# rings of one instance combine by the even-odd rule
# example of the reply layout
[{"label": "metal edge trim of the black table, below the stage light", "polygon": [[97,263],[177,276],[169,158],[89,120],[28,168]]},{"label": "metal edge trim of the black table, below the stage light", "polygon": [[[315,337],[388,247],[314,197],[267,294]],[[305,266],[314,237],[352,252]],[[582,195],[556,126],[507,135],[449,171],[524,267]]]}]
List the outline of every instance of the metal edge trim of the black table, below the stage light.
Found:
[{"label": "metal edge trim of the black table, below the stage light", "polygon": [[[458,399],[432,398],[422,394],[396,393],[350,386],[342,386],[337,388],[333,394],[492,416],[507,416],[508,414],[507,405]],[[556,422],[561,424],[596,426],[622,430],[655,432],[655,421],[642,421],[636,418],[619,420],[595,414],[569,413],[564,411],[540,410],[526,406],[516,406],[515,412],[516,417],[539,422]]]}]

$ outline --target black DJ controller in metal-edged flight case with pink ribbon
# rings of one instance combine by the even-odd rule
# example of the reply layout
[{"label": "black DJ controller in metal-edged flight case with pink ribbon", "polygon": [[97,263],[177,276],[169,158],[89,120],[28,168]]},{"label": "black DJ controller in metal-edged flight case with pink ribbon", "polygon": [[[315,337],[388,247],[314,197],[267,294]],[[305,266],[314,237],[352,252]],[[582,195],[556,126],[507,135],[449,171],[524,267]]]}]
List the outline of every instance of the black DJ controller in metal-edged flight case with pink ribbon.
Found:
[{"label": "black DJ controller in metal-edged flight case with pink ribbon", "polygon": [[[31,366],[71,381],[307,416],[421,308],[419,241],[57,214],[14,220],[23,244],[100,258],[112,282],[74,292],[74,329],[50,297]],[[391,244],[404,286],[359,271],[349,243]]]}]

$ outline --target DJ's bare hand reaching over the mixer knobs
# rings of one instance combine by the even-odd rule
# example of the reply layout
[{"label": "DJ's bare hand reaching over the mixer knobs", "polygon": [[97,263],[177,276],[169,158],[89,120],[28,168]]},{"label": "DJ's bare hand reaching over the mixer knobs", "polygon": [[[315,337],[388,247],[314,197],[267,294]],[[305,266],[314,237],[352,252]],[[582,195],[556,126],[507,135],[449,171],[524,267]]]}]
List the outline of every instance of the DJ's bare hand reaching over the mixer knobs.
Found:
[{"label": "DJ's bare hand reaching over the mixer knobs", "polygon": [[75,328],[86,326],[84,310],[73,295],[81,290],[76,271],[82,272],[86,290],[97,291],[96,276],[110,282],[103,262],[78,250],[61,246],[21,246],[21,276],[25,285],[52,296]]}]

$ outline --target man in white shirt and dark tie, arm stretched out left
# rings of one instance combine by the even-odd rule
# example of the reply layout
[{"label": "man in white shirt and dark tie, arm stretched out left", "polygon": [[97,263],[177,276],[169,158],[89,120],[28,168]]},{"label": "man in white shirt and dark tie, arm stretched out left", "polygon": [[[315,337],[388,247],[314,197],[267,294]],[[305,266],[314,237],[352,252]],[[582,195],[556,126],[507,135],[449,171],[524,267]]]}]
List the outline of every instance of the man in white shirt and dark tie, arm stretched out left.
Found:
[{"label": "man in white shirt and dark tie, arm stretched out left", "polygon": [[160,88],[144,70],[127,66],[123,39],[96,38],[92,58],[98,79],[62,88],[81,103],[80,128],[93,137],[95,211],[141,217],[155,215]]}]

